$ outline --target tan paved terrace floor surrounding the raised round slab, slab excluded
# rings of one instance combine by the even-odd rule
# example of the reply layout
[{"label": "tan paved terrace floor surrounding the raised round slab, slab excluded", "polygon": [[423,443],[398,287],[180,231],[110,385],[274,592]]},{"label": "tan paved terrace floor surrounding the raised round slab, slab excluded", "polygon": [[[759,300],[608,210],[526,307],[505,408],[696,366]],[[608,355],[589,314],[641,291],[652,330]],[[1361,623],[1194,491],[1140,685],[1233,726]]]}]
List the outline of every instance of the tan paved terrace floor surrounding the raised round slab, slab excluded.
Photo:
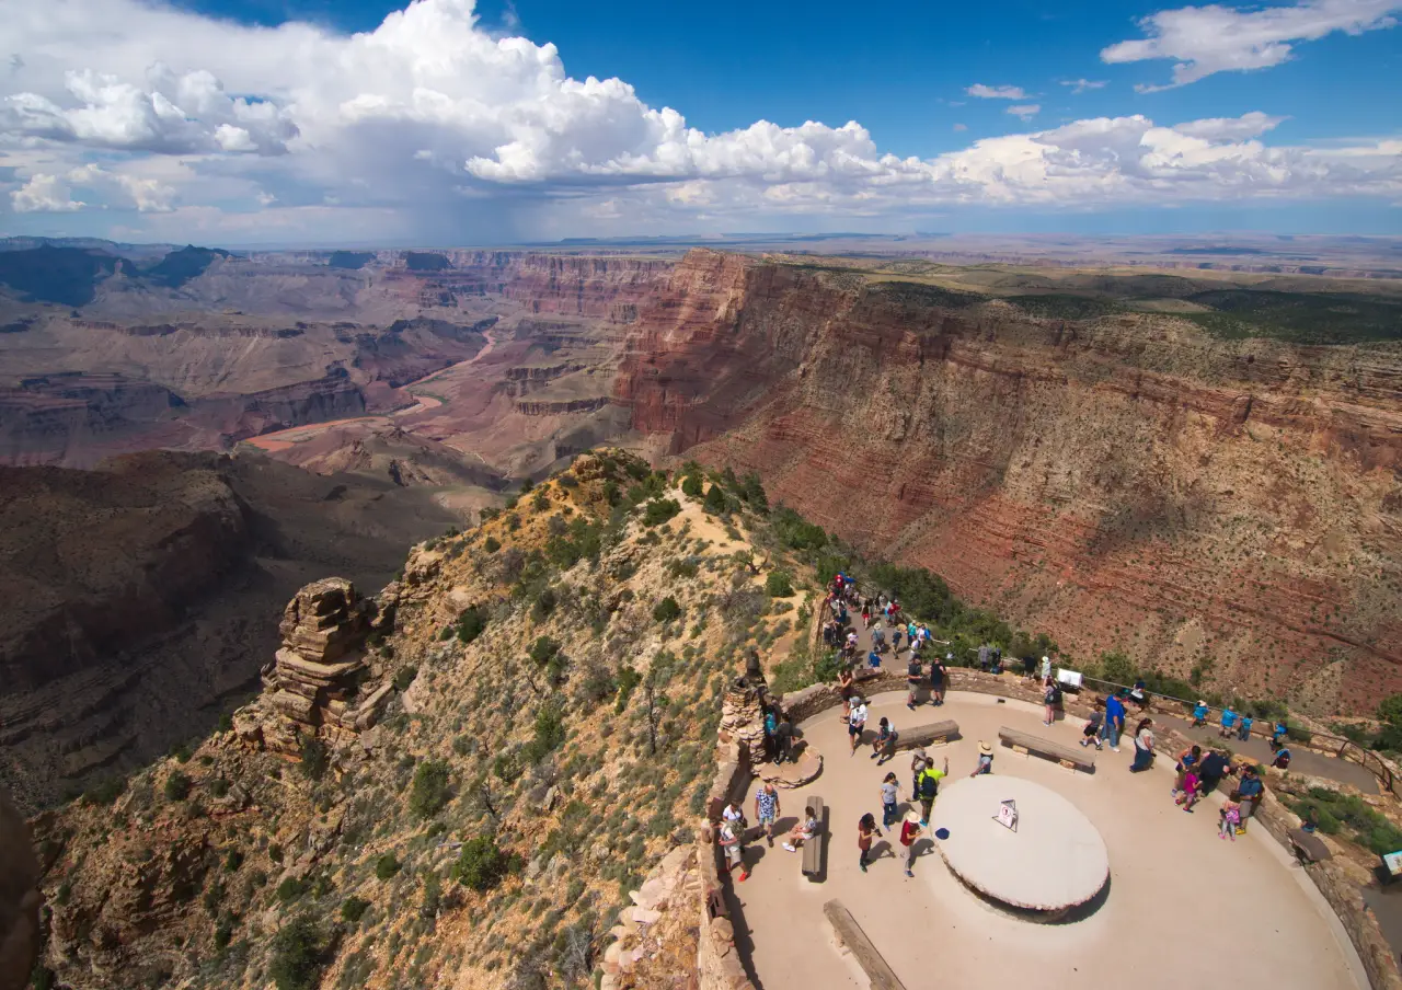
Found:
[{"label": "tan paved terrace floor surrounding the raised round slab, slab excluded", "polygon": [[[904,693],[878,696],[869,725],[886,715],[897,729],[953,718],[962,738],[934,747],[946,756],[948,796],[966,784],[980,739],[1000,725],[1075,745],[1077,726],[1043,726],[1035,705],[973,693],[951,693],[938,711],[910,712]],[[1037,757],[997,747],[994,774],[1021,777],[1073,802],[1101,833],[1110,861],[1105,902],[1089,917],[1039,925],[1000,913],[974,897],[924,840],[916,876],[903,874],[887,832],[882,858],[862,874],[855,826],[864,812],[880,819],[879,785],[894,770],[910,796],[910,754],[878,768],[868,749],[848,754],[841,710],[805,722],[809,745],[824,756],[809,787],[781,792],[781,825],[794,825],[809,794],[829,805],[831,836],[823,882],[801,874],[801,857],[778,844],[751,843],[751,876],[735,883],[736,931],[749,949],[761,990],[829,990],[864,986],[848,958],[831,947],[823,903],[840,899],[907,987],[1094,987],[1176,990],[1225,980],[1234,990],[1359,990],[1367,986],[1338,918],[1284,850],[1253,827],[1235,843],[1217,836],[1214,795],[1190,815],[1169,796],[1165,760],[1143,774],[1127,771],[1129,752],[1098,754],[1095,774],[1074,773]],[[753,794],[747,796],[747,806]],[[904,803],[903,808],[904,811]],[[935,818],[938,820],[938,803]],[[746,927],[749,931],[746,931]],[[1217,976],[1213,976],[1217,973]]]}]

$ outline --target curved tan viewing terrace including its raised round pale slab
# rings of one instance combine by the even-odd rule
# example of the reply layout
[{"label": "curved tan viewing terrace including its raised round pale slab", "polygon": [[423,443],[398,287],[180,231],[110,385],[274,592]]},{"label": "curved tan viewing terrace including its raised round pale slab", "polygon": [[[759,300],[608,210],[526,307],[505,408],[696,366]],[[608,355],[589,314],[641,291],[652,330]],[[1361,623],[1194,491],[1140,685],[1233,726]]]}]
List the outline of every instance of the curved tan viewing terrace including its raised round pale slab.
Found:
[{"label": "curved tan viewing terrace including its raised round pale slab", "polygon": [[[871,812],[880,823],[887,771],[896,774],[900,812],[911,808],[910,753],[878,767],[871,729],[868,745],[851,753],[841,708],[801,722],[823,768],[816,780],[780,792],[780,829],[782,834],[799,822],[809,796],[822,796],[829,822],[822,861],[805,876],[802,851],[789,853],[781,841],[770,847],[754,832],[746,851],[750,876],[728,890],[736,949],[758,990],[869,986],[858,954],[837,945],[824,914],[833,900],[908,990],[1112,983],[1178,990],[1200,980],[1224,980],[1234,990],[1368,986],[1338,916],[1290,854],[1259,823],[1235,841],[1220,839],[1221,794],[1185,813],[1169,795],[1168,760],[1131,774],[1126,740],[1120,753],[1096,753],[1094,773],[1068,770],[997,746],[998,729],[1080,750],[1077,721],[1046,726],[1039,705],[987,694],[951,691],[944,707],[918,711],[904,700],[903,691],[876,696],[868,726],[883,715],[897,731],[959,722],[955,740],[927,747],[937,766],[949,760],[931,815],[932,829],[948,827],[949,839],[927,830],[908,878],[900,826],[882,829],[862,872],[857,822]],[[993,775],[970,778],[980,740],[995,750]],[[757,787],[749,785],[746,809]],[[1015,834],[993,820],[1004,798],[1016,801]],[[942,841],[946,847],[937,848]],[[991,900],[1081,906],[1060,924],[1035,924],[1025,911]]]}]

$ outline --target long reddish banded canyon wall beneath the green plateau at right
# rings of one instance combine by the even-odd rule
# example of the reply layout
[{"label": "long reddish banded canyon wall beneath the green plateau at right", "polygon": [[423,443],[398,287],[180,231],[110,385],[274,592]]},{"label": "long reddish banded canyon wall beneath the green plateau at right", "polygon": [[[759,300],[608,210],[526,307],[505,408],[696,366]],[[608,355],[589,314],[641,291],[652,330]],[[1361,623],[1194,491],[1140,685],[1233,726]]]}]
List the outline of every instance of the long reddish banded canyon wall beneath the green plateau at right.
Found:
[{"label": "long reddish banded canyon wall beneath the green plateau at right", "polygon": [[614,398],[1073,658],[1318,711],[1402,690],[1402,345],[1103,308],[694,251]]}]

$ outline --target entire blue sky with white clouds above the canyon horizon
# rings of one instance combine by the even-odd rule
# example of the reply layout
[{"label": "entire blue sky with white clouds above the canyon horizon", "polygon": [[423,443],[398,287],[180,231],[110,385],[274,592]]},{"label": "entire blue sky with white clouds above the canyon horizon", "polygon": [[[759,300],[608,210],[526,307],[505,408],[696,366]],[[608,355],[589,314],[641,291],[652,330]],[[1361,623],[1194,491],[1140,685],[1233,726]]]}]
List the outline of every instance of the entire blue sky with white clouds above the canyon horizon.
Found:
[{"label": "entire blue sky with white clouds above the canyon horizon", "polygon": [[62,4],[130,36],[0,27],[27,233],[1402,233],[1402,0]]}]

